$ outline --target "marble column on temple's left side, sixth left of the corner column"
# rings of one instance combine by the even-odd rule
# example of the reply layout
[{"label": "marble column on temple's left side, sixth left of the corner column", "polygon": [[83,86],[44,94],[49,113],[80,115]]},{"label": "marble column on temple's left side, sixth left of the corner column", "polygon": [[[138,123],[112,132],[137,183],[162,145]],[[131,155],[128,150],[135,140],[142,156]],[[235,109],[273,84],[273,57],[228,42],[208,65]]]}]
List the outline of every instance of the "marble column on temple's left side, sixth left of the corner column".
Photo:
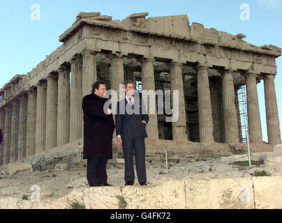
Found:
[{"label": "marble column on temple's left side, sixth left of the corner column", "polygon": [[20,98],[20,119],[19,119],[19,153],[17,160],[22,161],[26,157],[27,146],[27,94]]}]

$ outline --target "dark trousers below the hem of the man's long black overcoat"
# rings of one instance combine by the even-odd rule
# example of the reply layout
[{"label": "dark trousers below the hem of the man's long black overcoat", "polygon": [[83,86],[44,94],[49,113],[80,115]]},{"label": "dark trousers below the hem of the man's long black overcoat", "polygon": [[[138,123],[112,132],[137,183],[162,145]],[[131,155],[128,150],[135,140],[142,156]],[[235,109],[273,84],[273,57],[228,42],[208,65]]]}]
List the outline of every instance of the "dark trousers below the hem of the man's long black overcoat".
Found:
[{"label": "dark trousers below the hem of the man's long black overcoat", "polygon": [[89,186],[107,183],[107,157],[87,159],[87,180]]}]

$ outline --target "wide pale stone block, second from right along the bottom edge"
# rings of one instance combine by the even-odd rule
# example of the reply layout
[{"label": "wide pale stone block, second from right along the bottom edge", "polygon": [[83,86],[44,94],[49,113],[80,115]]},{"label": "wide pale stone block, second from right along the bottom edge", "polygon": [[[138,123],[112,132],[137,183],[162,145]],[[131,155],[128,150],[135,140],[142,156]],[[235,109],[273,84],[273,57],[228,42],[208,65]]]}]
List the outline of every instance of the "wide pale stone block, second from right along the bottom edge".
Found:
[{"label": "wide pale stone block, second from right along the bottom edge", "polygon": [[254,208],[250,178],[214,180],[186,179],[186,206],[189,209]]}]

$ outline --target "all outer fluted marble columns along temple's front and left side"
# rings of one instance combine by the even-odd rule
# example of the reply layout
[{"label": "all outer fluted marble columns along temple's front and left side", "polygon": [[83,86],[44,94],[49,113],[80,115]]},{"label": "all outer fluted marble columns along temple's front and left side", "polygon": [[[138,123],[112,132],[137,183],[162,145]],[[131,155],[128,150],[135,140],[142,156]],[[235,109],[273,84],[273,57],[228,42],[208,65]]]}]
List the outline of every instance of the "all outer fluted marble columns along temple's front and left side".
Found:
[{"label": "all outer fluted marble columns along temple's front and left side", "polygon": [[[110,55],[111,89],[119,91],[124,82],[124,64],[121,54]],[[142,90],[155,91],[154,58],[143,58]],[[83,136],[82,98],[91,93],[91,84],[97,80],[96,52],[84,51],[71,61],[71,70],[61,66],[56,73],[36,84],[20,99],[1,112],[0,125],[4,128],[3,151],[6,154],[4,164],[16,162],[24,156],[48,151],[56,146],[81,139]],[[170,64],[171,92],[179,90],[179,119],[172,123],[173,140],[187,141],[186,109],[182,63]],[[213,120],[211,114],[211,95],[209,91],[209,68],[207,64],[197,66],[198,70],[198,112],[201,142],[213,142]],[[71,72],[71,86],[70,86]],[[248,125],[251,143],[262,142],[260,112],[256,74],[246,74]],[[265,76],[265,103],[267,112],[267,132],[269,144],[281,143],[279,117],[274,86],[274,75]],[[235,107],[235,89],[233,71],[223,71],[223,119],[225,143],[239,143],[237,110]],[[83,86],[83,88],[82,88]],[[172,97],[173,98],[173,97]],[[158,139],[158,118],[149,114],[147,132],[150,139]],[[147,111],[150,110],[149,102]],[[4,124],[3,124],[4,123]],[[26,132],[26,133],[25,133]],[[17,152],[18,148],[24,148]],[[10,157],[12,159],[10,160]]]}]

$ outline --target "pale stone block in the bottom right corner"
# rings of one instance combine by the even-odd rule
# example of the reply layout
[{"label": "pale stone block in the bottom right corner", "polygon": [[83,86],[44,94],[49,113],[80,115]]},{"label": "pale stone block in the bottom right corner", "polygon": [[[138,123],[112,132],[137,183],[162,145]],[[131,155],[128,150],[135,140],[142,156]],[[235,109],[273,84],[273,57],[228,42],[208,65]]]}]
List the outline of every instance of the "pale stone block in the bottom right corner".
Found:
[{"label": "pale stone block in the bottom right corner", "polygon": [[255,208],[282,208],[282,176],[260,176],[253,178]]}]

